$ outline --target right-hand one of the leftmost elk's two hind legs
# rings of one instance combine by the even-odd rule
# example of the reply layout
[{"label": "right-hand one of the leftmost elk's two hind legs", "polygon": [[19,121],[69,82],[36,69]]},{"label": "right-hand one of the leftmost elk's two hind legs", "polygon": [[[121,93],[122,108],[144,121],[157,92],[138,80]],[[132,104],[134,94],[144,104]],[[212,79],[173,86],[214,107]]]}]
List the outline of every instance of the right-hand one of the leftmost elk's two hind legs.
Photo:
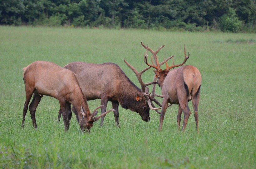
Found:
[{"label": "right-hand one of the leftmost elk's two hind legs", "polygon": [[36,110],[39,102],[41,101],[41,96],[38,94],[38,92],[35,90],[33,99],[29,105],[29,111],[32,119],[33,127],[37,128],[37,122],[36,122]]}]

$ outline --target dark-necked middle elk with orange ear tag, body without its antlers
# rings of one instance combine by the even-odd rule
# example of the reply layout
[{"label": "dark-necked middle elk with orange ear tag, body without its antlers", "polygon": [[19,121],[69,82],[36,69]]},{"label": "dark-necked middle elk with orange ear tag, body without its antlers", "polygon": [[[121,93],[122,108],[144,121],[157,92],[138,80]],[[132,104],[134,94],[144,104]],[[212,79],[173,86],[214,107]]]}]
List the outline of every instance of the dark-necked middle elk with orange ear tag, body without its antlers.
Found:
[{"label": "dark-necked middle elk with orange ear tag, body without its antlers", "polygon": [[[64,66],[76,74],[79,85],[87,100],[101,99],[101,114],[106,111],[107,102],[112,102],[116,125],[119,126],[119,104],[140,114],[142,120],[148,122],[149,105],[141,89],[135,86],[121,68],[115,63],[72,62]],[[150,67],[149,67],[150,68]],[[145,92],[148,92],[148,88]],[[59,112],[58,120],[61,113]],[[101,118],[101,126],[104,116]]]}]

